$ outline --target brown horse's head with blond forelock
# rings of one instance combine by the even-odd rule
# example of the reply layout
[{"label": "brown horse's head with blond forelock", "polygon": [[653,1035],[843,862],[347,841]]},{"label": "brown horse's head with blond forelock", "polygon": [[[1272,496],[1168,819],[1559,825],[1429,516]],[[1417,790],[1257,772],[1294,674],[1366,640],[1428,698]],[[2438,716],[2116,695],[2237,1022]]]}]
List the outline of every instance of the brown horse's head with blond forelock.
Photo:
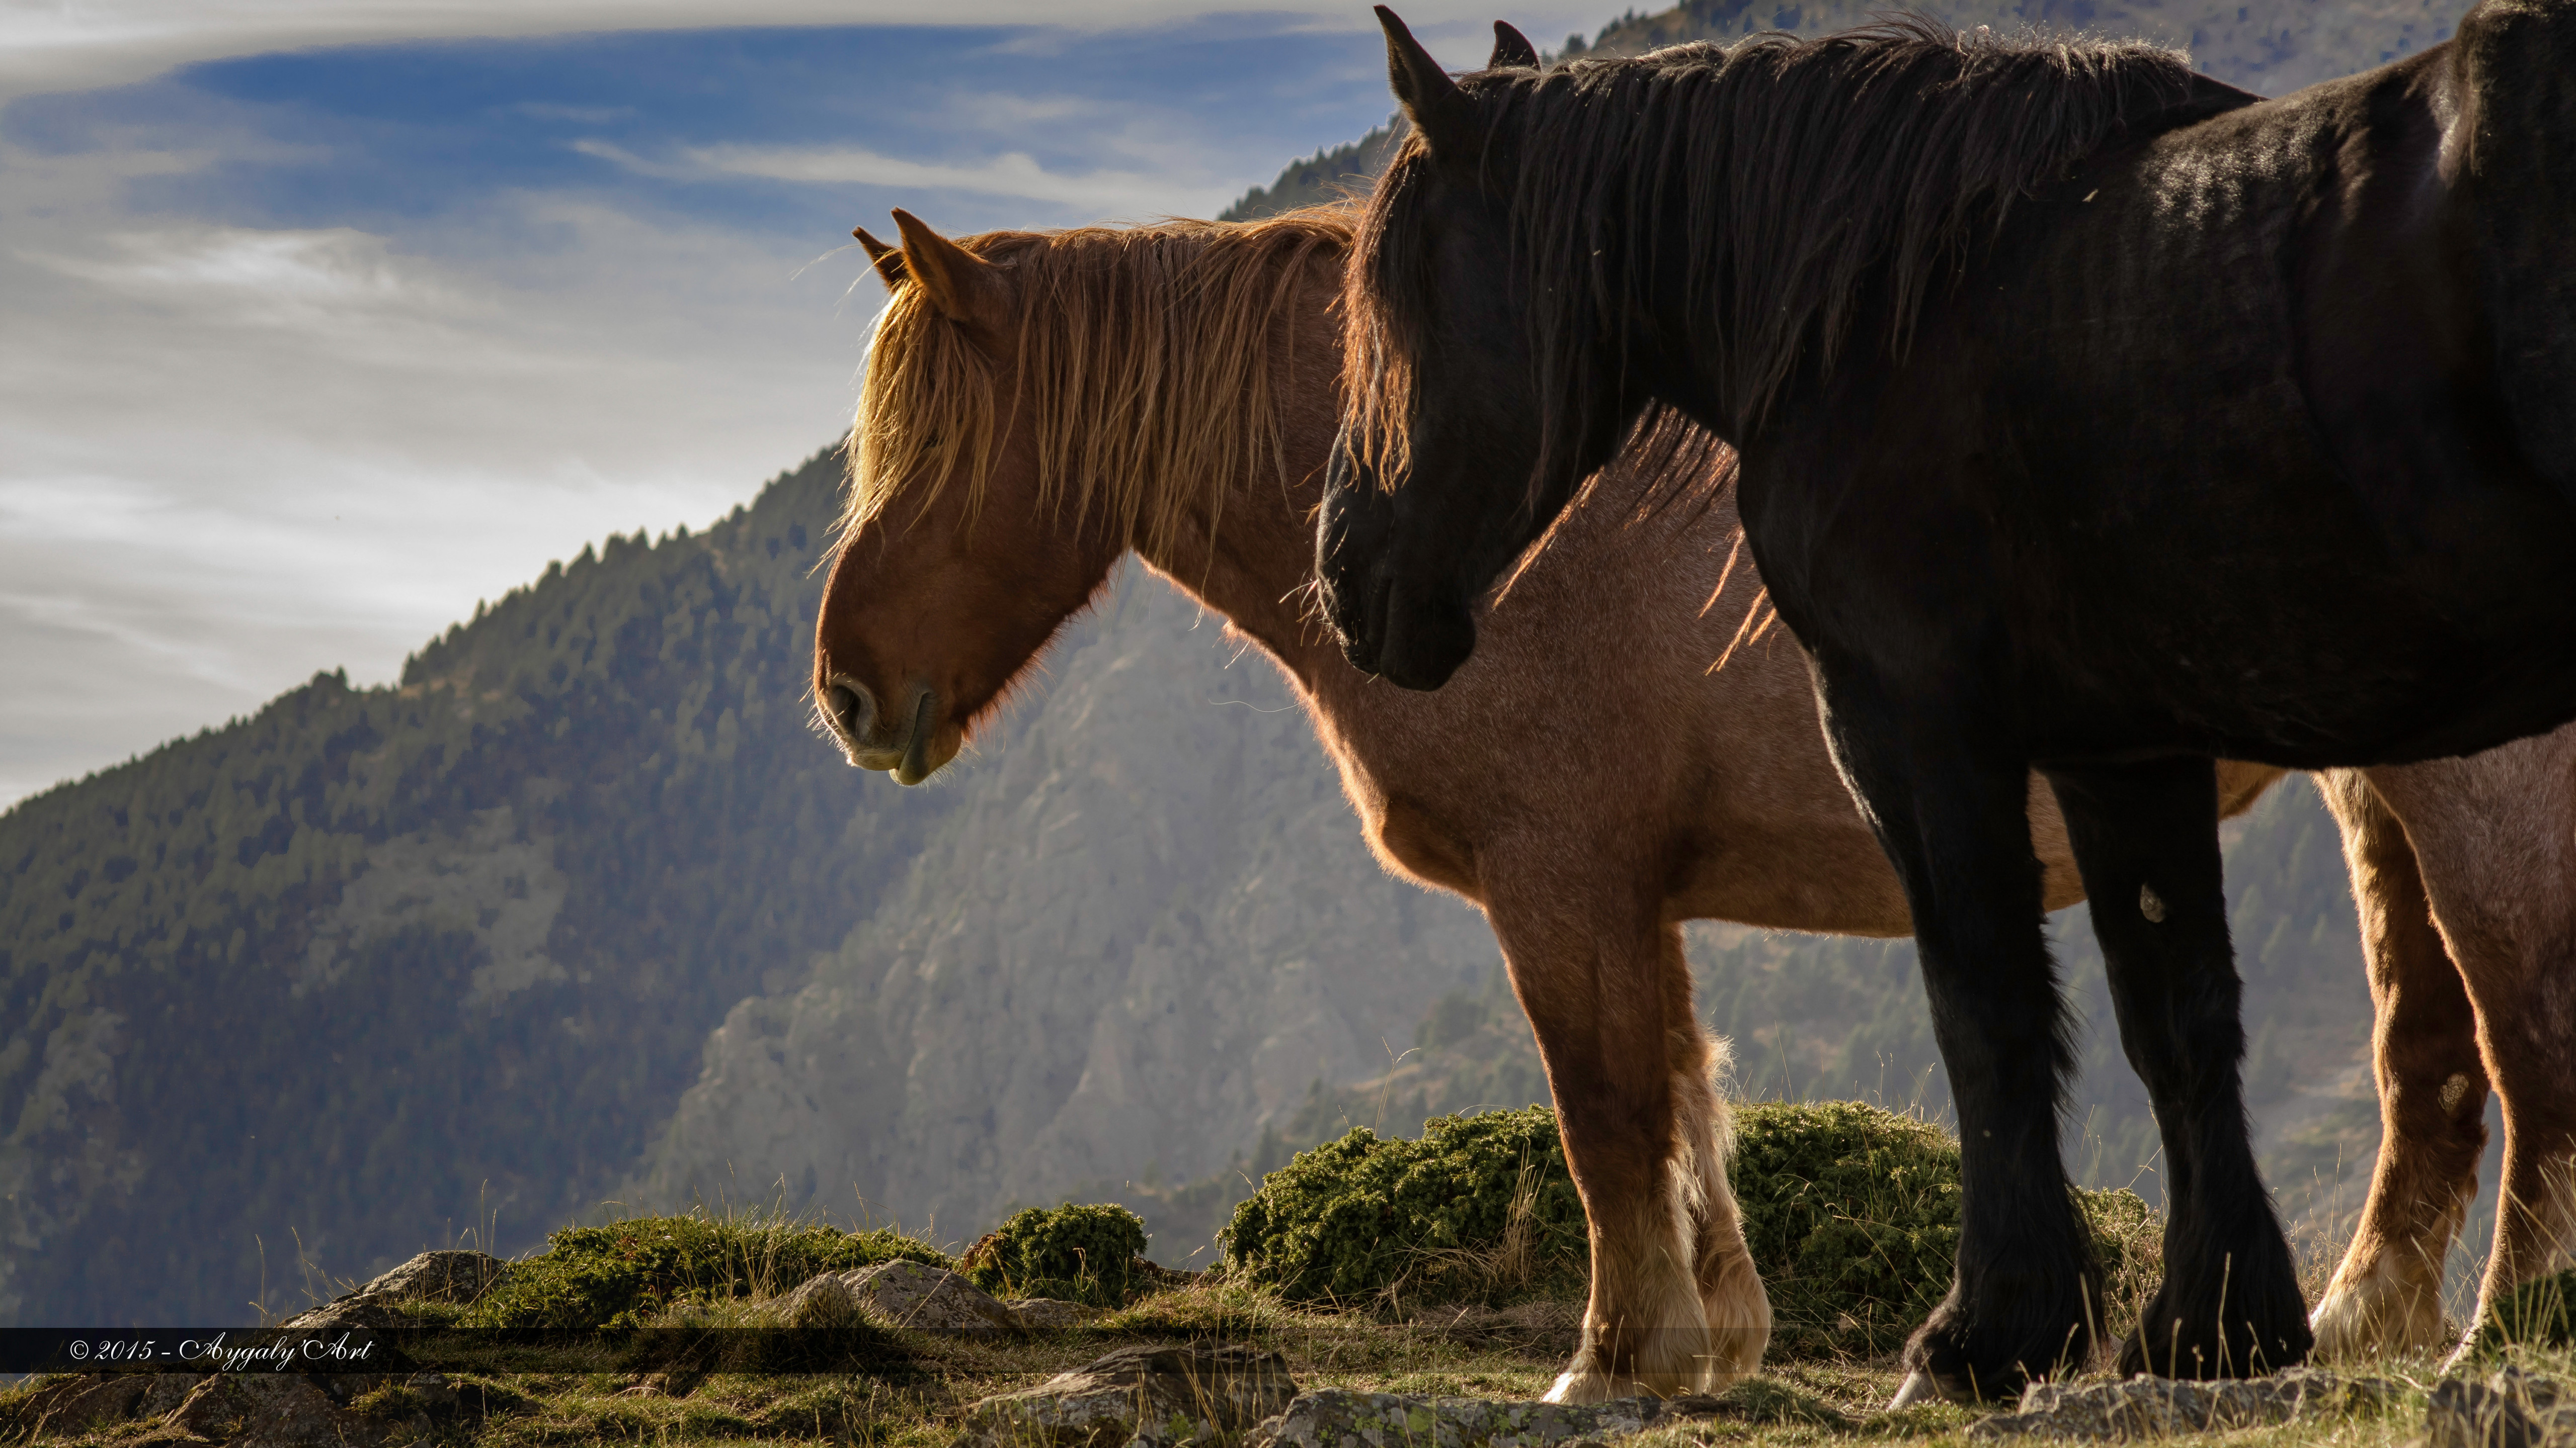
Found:
[{"label": "brown horse's head with blond forelock", "polygon": [[814,624],[814,703],[853,765],[922,783],[1108,580],[1123,541],[1041,508],[1005,384],[1020,296],[904,211],[858,232],[894,291],[850,433],[850,508]]}]

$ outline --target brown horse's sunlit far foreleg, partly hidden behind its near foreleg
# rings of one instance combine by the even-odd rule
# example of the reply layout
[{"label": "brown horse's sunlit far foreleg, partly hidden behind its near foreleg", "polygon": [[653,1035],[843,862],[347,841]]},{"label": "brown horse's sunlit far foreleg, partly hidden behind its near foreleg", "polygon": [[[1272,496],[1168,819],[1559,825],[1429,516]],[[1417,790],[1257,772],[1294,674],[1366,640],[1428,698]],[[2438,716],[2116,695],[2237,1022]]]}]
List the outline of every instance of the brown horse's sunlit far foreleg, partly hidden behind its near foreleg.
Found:
[{"label": "brown horse's sunlit far foreleg, partly hidden behind its near foreleg", "polygon": [[[1685,992],[1690,987],[1680,930],[1664,933],[1664,979],[1682,982]],[[1744,1247],[1744,1216],[1726,1183],[1726,1159],[1734,1152],[1734,1118],[1718,1085],[1726,1074],[1726,1043],[1710,1041],[1685,1018],[1669,1031],[1667,1062],[1682,1147],[1674,1170],[1687,1188],[1698,1247],[1692,1275],[1708,1314],[1708,1371],[1700,1386],[1718,1391],[1762,1368],[1762,1350],[1770,1348],[1770,1293],[1762,1291],[1762,1273]]]}]

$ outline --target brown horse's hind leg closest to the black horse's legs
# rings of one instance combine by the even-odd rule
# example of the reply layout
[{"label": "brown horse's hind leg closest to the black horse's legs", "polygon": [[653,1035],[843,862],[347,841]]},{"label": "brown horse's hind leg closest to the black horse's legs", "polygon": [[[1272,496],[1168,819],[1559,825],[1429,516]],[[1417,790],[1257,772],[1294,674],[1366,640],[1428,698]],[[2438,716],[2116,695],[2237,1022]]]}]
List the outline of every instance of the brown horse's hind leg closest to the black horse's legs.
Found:
[{"label": "brown horse's hind leg closest to the black horse's legs", "polygon": [[2478,1196],[2486,1062],[2478,1018],[2434,928],[2416,845],[2360,770],[2316,776],[2344,830],[2378,1023],[2380,1159],[2352,1244],[2308,1324],[2318,1358],[2442,1342],[2442,1257]]}]

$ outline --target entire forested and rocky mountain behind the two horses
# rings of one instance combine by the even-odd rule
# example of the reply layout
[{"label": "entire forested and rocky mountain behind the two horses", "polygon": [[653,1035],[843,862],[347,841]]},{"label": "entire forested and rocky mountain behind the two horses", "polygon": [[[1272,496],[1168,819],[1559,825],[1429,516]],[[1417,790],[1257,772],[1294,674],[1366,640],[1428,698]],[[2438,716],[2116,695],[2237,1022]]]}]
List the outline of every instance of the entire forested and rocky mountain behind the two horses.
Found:
[{"label": "entire forested and rocky mountain behind the two horses", "polygon": [[[2290,85],[2458,13],[2372,5],[1950,18],[2143,28]],[[1587,49],[1839,15],[1685,5]],[[0,814],[0,1322],[234,1319],[299,1301],[299,1260],[526,1247],[603,1198],[963,1239],[1118,1196],[1188,1257],[1298,1144],[1540,1095],[1484,922],[1376,868],[1275,672],[1151,577],[953,778],[845,768],[804,701],[835,490],[817,456],[703,533],[549,567],[397,688],[317,675]],[[2231,827],[2228,889],[2267,1167],[2349,1214],[2370,1007],[2306,783]],[[2056,930],[2094,1023],[2074,1159],[2130,1183],[2151,1118],[2081,910]],[[1940,1108],[1909,943],[1690,953],[1747,1092]]]}]

